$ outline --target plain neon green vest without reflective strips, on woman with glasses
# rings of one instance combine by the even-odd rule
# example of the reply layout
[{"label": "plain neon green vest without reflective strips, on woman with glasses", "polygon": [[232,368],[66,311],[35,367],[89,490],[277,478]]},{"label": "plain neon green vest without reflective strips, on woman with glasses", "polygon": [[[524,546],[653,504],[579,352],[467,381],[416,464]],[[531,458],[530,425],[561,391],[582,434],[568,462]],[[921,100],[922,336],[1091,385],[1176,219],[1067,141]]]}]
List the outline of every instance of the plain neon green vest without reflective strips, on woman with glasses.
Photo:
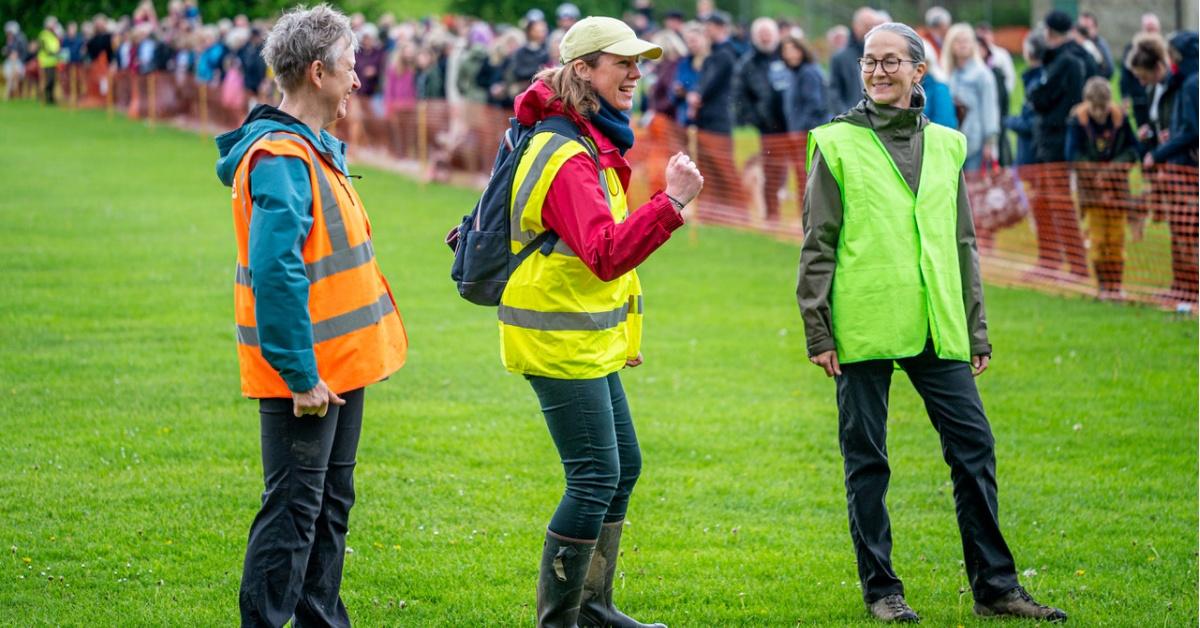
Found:
[{"label": "plain neon green vest without reflective strips, on woman with glasses", "polygon": [[958,253],[966,138],[928,125],[917,195],[875,131],[832,122],[809,133],[841,190],[842,226],[829,307],[842,364],[917,355],[971,359]]}]

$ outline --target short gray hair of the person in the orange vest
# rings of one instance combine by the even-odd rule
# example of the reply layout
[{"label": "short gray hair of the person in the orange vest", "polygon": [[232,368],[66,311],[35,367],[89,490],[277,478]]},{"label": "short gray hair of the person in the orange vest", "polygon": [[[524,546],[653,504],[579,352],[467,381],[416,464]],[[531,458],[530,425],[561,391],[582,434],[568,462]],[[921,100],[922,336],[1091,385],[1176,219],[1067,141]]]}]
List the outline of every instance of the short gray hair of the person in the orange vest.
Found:
[{"label": "short gray hair of the person in the orange vest", "polygon": [[266,35],[263,59],[275,70],[280,89],[288,91],[304,84],[313,61],[332,68],[337,56],[344,53],[344,48],[337,47],[342,40],[348,40],[349,47],[358,49],[358,37],[344,13],[325,4],[312,8],[298,6],[280,16]]}]

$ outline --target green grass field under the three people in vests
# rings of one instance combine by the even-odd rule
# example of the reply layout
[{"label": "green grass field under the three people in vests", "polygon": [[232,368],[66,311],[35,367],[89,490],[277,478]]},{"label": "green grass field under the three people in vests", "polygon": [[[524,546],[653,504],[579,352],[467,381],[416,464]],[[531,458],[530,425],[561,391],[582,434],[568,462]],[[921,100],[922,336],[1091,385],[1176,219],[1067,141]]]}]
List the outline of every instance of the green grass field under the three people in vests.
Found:
[{"label": "green grass field under the three people in vests", "polygon": [[[0,609],[23,626],[229,626],[262,490],[239,397],[229,192],[212,142],[0,106]],[[361,169],[408,365],[368,393],[344,599],[360,626],[528,626],[562,467],[494,313],[442,237],[474,192]],[[833,383],[793,244],[686,227],[644,264],[646,467],[618,603],[678,627],[869,624]],[[1001,516],[1075,626],[1196,623],[1196,321],[989,287],[980,388]],[[976,626],[948,471],[898,373],[895,564],[930,626]]]}]

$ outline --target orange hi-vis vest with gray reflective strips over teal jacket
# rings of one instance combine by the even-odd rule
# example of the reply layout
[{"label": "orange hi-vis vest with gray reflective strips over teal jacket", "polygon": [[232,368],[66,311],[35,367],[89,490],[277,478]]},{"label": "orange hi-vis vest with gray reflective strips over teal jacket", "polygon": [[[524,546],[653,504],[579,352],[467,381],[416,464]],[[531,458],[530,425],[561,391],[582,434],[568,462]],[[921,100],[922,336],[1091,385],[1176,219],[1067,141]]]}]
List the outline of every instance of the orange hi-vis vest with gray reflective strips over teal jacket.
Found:
[{"label": "orange hi-vis vest with gray reflective strips over teal jacket", "polygon": [[371,246],[371,221],[358,192],[301,136],[272,132],[256,142],[233,183],[233,221],[238,237],[234,310],[241,391],[248,397],[290,397],[280,373],[263,358],[254,323],[250,273],[250,168],[257,156],[295,157],[308,166],[312,229],[304,243],[308,275],[308,316],[320,378],[344,393],[386,378],[404,365],[408,336],[388,280]]}]

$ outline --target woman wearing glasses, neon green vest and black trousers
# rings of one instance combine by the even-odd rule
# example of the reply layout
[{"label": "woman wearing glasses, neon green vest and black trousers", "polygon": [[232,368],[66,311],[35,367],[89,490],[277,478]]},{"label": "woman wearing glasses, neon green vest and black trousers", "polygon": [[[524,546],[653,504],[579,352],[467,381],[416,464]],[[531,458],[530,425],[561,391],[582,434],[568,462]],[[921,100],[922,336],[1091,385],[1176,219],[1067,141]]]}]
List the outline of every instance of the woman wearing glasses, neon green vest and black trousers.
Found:
[{"label": "woman wearing glasses, neon green vest and black trousers", "polygon": [[863,598],[883,621],[919,621],[892,569],[884,504],[898,363],[950,466],[976,614],[1063,621],[1063,611],[1019,585],[1000,532],[994,441],[973,379],[988,369],[991,346],[962,179],[966,139],[922,114],[926,64],[911,28],[872,29],[859,67],[865,98],[809,134],[797,298],[810,360],[836,378]]}]

